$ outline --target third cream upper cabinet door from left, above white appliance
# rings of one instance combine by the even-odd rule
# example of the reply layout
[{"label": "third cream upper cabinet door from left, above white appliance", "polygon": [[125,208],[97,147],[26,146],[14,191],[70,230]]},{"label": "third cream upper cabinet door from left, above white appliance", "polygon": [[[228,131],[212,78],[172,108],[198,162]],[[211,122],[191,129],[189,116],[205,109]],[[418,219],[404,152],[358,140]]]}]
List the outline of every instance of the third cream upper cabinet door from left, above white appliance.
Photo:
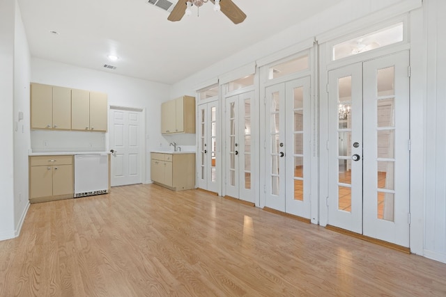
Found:
[{"label": "third cream upper cabinet door from left, above white appliance", "polygon": [[90,92],[71,90],[71,129],[90,129]]}]

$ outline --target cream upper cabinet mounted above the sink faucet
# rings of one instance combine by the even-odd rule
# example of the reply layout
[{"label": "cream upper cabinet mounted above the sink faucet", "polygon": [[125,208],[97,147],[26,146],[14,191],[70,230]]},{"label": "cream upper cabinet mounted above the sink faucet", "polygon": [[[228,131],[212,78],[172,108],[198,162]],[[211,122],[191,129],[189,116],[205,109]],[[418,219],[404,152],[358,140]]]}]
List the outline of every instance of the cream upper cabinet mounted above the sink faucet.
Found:
[{"label": "cream upper cabinet mounted above the sink faucet", "polygon": [[195,133],[195,97],[183,96],[161,105],[161,133]]}]

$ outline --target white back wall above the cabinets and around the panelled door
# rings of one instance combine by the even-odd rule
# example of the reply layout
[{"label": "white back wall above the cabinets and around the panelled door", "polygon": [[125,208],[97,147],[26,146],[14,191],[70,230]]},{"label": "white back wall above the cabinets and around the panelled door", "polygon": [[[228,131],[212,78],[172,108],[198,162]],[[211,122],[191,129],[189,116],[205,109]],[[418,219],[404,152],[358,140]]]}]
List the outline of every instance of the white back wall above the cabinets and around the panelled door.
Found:
[{"label": "white back wall above the cabinets and around the panelled door", "polygon": [[[151,150],[159,149],[160,145],[161,147],[169,146],[169,142],[160,134],[161,102],[169,99],[168,85],[47,61],[40,58],[31,58],[31,81],[54,86],[104,92],[108,95],[109,105],[146,109],[146,154]],[[33,149],[43,150],[43,147],[38,147],[38,145],[41,146],[44,138],[52,137],[49,134],[42,134],[40,132],[32,131]],[[54,136],[55,134],[52,135]],[[66,138],[74,134],[72,132],[62,132],[58,135]],[[94,134],[91,137],[91,141],[96,143],[100,142],[100,139],[93,138],[101,138],[103,134]],[[49,145],[51,146],[49,147],[50,149],[55,149],[57,145],[60,145],[60,142],[50,141]],[[108,143],[105,143],[105,145],[108,147]],[[146,182],[148,181],[150,181],[149,157],[146,158]]]}]

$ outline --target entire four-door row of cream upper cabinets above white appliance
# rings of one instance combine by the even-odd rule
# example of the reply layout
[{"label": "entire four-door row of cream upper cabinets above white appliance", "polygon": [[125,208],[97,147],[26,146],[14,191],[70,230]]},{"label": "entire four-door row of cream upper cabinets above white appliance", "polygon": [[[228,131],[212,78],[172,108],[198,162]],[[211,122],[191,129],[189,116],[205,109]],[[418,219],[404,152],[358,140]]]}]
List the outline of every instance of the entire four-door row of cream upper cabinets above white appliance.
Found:
[{"label": "entire four-door row of cream upper cabinets above white appliance", "polygon": [[31,129],[107,131],[107,94],[31,83]]}]

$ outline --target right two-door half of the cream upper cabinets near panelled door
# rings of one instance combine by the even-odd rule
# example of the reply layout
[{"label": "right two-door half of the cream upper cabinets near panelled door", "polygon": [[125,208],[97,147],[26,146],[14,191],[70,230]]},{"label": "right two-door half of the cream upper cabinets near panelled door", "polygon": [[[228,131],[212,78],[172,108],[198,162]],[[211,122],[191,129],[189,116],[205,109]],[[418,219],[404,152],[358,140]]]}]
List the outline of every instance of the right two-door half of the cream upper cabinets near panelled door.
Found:
[{"label": "right two-door half of the cream upper cabinets near panelled door", "polygon": [[71,129],[107,131],[107,94],[72,90]]}]

